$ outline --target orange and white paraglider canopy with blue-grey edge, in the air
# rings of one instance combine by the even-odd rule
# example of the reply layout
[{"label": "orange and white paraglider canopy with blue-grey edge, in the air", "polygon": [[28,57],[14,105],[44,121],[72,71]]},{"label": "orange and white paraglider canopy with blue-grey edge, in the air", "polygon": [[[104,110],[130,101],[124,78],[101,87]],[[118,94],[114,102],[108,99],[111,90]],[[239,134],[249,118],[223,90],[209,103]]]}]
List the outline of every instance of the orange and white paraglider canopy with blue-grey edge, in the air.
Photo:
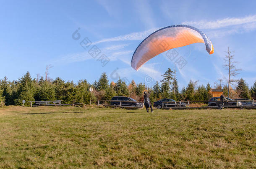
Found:
[{"label": "orange and white paraglider canopy with blue-grey edge, in the air", "polygon": [[137,71],[144,63],[172,48],[192,43],[204,43],[209,54],[214,53],[207,35],[189,25],[172,25],[159,29],[144,39],[133,53],[131,66]]}]

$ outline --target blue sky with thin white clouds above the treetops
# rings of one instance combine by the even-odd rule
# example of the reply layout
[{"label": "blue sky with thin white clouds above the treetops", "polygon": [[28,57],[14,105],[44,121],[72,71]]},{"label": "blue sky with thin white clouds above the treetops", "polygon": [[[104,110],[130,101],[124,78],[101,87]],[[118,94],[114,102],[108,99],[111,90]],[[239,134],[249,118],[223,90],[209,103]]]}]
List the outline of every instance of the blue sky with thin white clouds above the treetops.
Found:
[{"label": "blue sky with thin white clouds above the treetops", "polygon": [[[155,30],[186,24],[208,35],[214,54],[203,43],[175,49],[187,62],[177,66],[180,89],[190,80],[214,86],[227,77],[222,65],[228,47],[241,69],[236,78],[250,87],[256,81],[255,6],[252,0],[0,0],[0,79],[17,80],[27,71],[44,76],[51,65],[52,79],[93,83],[106,72],[109,81],[120,77],[152,87],[175,63],[165,52],[136,71],[134,50]],[[90,55],[94,45],[101,52],[96,57]]]}]

